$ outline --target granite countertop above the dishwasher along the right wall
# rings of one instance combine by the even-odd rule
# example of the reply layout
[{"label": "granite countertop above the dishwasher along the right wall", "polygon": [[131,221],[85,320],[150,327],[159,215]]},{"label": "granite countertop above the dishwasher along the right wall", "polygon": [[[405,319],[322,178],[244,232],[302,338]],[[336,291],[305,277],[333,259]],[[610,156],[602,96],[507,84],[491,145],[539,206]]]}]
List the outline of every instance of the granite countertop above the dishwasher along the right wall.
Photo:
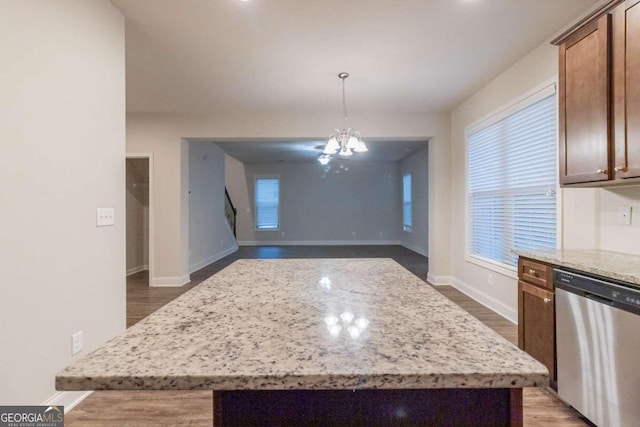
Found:
[{"label": "granite countertop above the dishwasher along the right wall", "polygon": [[598,249],[514,250],[514,253],[640,286],[640,256]]}]

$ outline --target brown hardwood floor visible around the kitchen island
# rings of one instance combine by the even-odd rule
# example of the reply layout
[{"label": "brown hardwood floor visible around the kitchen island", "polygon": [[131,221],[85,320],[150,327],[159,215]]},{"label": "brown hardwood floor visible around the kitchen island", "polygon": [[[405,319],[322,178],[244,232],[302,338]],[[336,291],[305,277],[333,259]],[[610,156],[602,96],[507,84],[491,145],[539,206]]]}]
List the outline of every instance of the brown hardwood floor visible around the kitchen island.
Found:
[{"label": "brown hardwood floor visible around the kitchen island", "polygon": [[[242,258],[393,258],[425,280],[427,258],[401,246],[241,247],[236,253],[191,275],[180,288],[150,288],[146,272],[127,278],[127,327],[153,313],[233,261]],[[517,327],[450,286],[436,288],[471,315],[517,344]],[[588,426],[550,389],[525,389],[524,425]],[[65,415],[67,426],[211,426],[210,391],[98,391]]]}]

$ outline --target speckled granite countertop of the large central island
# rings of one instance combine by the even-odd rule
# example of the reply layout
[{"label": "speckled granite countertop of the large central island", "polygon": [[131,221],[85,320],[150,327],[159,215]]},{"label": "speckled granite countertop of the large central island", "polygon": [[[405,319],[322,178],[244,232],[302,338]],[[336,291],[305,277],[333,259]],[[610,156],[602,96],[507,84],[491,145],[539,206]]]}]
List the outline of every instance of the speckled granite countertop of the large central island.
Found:
[{"label": "speckled granite countertop of the large central island", "polygon": [[548,371],[391,259],[238,260],[58,390],[545,386]]}]

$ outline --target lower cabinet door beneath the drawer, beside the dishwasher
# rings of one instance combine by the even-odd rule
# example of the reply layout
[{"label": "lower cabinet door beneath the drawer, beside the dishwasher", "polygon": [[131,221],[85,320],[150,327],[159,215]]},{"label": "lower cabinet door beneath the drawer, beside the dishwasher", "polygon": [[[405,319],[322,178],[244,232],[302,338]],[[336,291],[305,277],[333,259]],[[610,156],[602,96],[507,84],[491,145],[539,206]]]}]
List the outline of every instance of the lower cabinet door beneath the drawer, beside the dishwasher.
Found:
[{"label": "lower cabinet door beneath the drawer, beside the dishwasher", "polygon": [[518,281],[518,347],[549,369],[552,386],[556,377],[553,295],[553,292]]}]

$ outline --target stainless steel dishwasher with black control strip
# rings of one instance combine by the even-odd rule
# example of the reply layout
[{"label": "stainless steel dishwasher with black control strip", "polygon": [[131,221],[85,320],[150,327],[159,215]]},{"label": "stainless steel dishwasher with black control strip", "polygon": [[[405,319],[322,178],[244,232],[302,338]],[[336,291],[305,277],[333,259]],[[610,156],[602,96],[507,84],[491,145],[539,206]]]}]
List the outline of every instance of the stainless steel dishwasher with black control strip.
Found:
[{"label": "stainless steel dishwasher with black control strip", "polygon": [[640,426],[640,288],[554,270],[558,395],[600,427]]}]

